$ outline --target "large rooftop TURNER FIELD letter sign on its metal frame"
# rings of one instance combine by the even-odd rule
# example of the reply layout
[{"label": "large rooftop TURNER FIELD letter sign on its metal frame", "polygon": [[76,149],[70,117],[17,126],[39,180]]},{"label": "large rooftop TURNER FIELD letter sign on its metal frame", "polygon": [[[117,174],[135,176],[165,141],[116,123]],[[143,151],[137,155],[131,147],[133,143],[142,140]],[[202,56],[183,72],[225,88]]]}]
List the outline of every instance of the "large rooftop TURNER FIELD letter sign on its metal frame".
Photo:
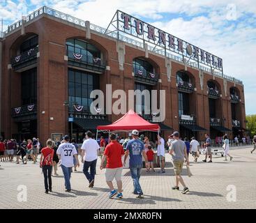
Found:
[{"label": "large rooftop TURNER FIELD letter sign on its metal frame", "polygon": [[155,43],[160,47],[166,47],[172,52],[187,56],[199,63],[211,66],[211,68],[223,70],[223,60],[218,56],[210,54],[204,49],[200,49],[199,47],[187,43],[180,38],[176,38],[170,33],[166,33],[165,31],[138,20],[131,15],[123,13],[119,10],[117,13],[119,13],[119,22],[121,22],[121,26],[118,25],[119,31],[128,33],[146,42]]}]

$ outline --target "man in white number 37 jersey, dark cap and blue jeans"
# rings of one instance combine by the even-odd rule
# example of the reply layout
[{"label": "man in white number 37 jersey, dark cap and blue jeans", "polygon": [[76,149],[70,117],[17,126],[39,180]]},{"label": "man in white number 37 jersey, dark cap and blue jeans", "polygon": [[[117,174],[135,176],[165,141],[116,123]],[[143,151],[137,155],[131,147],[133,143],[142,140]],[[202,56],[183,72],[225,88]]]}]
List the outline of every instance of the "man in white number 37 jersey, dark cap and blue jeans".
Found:
[{"label": "man in white number 37 jersey, dark cap and blue jeans", "polygon": [[73,156],[77,160],[77,167],[80,166],[77,156],[77,150],[75,149],[75,146],[73,146],[73,144],[69,143],[69,140],[69,136],[66,135],[64,137],[63,144],[60,144],[59,148],[57,149],[57,155],[59,155],[59,159],[61,160],[61,169],[65,178],[66,192],[71,191],[70,176],[72,167],[74,165]]}]

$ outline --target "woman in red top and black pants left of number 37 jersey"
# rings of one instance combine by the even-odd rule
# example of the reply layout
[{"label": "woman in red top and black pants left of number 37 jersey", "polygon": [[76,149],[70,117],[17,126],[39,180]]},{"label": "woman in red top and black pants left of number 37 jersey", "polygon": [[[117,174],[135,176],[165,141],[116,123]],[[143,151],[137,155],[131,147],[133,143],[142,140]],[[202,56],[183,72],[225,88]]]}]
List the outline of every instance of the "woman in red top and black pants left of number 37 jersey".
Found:
[{"label": "woman in red top and black pants left of number 37 jersey", "polygon": [[54,149],[52,149],[53,143],[51,139],[47,140],[46,146],[41,151],[40,168],[43,169],[43,176],[45,178],[45,194],[48,194],[49,191],[52,192],[52,159]]}]

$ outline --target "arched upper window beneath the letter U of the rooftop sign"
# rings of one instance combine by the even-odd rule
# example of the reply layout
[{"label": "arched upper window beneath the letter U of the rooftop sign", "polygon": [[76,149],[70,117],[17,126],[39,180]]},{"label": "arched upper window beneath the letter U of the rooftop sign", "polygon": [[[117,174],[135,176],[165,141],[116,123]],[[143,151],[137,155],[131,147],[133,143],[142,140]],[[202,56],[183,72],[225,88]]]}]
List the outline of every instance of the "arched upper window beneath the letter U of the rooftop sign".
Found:
[{"label": "arched upper window beneath the letter U of the rooftop sign", "polygon": [[133,60],[133,72],[135,75],[147,77],[149,73],[153,73],[153,66],[144,59],[136,58]]}]

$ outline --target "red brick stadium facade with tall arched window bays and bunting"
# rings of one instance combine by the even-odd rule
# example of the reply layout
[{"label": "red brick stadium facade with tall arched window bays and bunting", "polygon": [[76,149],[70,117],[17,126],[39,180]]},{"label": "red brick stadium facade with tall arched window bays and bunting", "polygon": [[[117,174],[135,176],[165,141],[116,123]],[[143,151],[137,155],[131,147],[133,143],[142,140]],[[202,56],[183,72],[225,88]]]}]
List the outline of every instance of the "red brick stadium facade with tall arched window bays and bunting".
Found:
[{"label": "red brick stadium facade with tall arched window bays and bunting", "polygon": [[[73,137],[81,140],[85,130],[95,131],[96,125],[121,117],[89,112],[89,93],[93,89],[105,93],[106,84],[127,95],[130,89],[165,90],[166,116],[160,123],[165,137],[171,129],[199,140],[205,132],[212,138],[244,134],[242,82],[116,40],[97,29],[89,22],[77,24],[45,13],[43,7],[2,33],[2,137],[38,136],[45,141],[72,128]],[[152,121],[151,115],[142,116]]]}]

